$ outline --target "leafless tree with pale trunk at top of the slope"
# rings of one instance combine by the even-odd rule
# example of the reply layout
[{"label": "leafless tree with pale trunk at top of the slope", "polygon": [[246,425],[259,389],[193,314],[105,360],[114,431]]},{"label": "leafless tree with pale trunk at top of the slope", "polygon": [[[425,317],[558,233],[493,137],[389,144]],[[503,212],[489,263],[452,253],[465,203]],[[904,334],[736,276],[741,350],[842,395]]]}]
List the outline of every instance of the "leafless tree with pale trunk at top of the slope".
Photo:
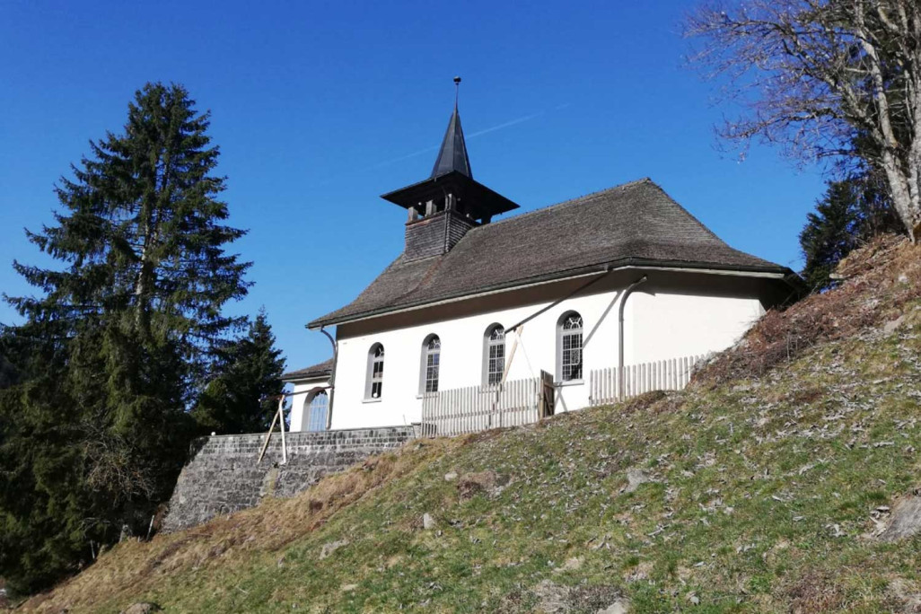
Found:
[{"label": "leafless tree with pale trunk at top of the slope", "polygon": [[740,0],[701,7],[693,61],[747,112],[731,140],[809,159],[861,158],[921,239],[921,0]]}]

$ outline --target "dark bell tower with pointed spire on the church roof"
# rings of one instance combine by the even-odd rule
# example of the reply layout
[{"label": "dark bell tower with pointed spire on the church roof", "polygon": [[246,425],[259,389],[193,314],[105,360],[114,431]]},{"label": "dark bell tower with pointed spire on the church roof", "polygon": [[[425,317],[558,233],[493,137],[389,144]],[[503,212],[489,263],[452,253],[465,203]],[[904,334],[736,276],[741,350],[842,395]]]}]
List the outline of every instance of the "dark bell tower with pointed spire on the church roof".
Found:
[{"label": "dark bell tower with pointed spire on the church roof", "polygon": [[473,180],[458,112],[460,76],[454,77],[454,86],[454,112],[432,174],[426,180],[381,196],[407,210],[405,260],[447,253],[473,226],[489,224],[494,215],[519,206]]}]

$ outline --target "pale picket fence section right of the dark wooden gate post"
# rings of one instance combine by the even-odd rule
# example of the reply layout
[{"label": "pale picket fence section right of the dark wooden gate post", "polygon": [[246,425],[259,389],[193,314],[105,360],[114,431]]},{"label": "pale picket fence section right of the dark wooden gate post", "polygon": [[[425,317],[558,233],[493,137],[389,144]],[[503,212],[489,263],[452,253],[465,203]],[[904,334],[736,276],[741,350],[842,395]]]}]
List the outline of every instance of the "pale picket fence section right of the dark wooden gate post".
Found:
[{"label": "pale picket fence section right of the dark wooden gate post", "polygon": [[[624,366],[624,399],[652,390],[681,390],[691,381],[694,368],[704,355],[670,358],[641,365]],[[589,371],[589,402],[603,405],[620,400],[618,367]]]}]

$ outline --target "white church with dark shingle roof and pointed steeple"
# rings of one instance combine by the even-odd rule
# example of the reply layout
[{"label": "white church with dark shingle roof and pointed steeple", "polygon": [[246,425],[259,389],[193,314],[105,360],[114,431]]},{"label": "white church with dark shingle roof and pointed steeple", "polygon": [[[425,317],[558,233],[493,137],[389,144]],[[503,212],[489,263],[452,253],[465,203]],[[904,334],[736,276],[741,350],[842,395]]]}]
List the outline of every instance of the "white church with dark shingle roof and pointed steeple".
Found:
[{"label": "white church with dark shingle roof and pointed steeple", "polygon": [[680,388],[689,357],[729,347],[801,291],[796,273],[730,248],[649,179],[514,214],[473,179],[456,103],[431,175],[382,198],[406,210],[402,253],[309,322],[335,328],[335,352],[284,376],[294,431],[426,427],[453,411],[461,426],[428,431],[453,434],[465,420],[532,421],[494,422],[501,408],[536,419]]}]

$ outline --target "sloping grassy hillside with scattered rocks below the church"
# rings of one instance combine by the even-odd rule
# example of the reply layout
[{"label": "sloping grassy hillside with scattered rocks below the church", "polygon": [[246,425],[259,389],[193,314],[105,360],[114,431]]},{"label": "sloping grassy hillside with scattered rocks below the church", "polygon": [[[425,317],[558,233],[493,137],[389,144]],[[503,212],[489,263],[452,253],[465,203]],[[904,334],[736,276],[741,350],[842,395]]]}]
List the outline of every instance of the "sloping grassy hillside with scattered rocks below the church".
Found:
[{"label": "sloping grassy hillside with scattered rocks below the church", "polygon": [[414,442],[25,609],[914,611],[921,539],[876,534],[921,486],[921,249],[843,271],[682,393]]}]

